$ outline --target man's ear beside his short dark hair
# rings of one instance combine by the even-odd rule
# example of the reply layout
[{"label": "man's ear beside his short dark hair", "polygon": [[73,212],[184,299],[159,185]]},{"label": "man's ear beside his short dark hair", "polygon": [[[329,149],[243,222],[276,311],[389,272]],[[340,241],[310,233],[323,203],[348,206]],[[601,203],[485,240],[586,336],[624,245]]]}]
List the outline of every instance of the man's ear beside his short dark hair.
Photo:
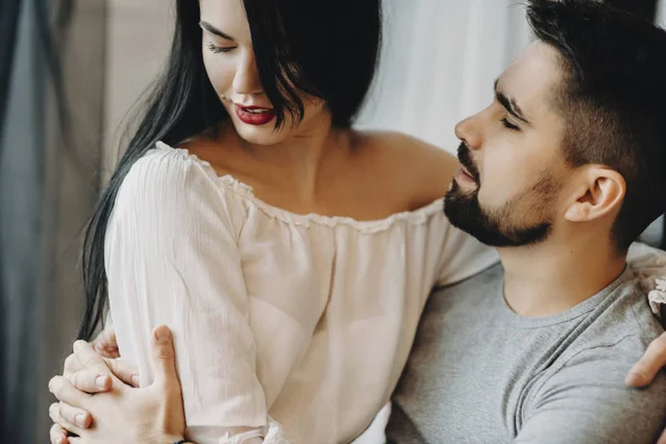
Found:
[{"label": "man's ear beside his short dark hair", "polygon": [[582,172],[581,186],[564,214],[569,222],[586,222],[617,213],[627,184],[617,171],[603,165],[589,165]]}]

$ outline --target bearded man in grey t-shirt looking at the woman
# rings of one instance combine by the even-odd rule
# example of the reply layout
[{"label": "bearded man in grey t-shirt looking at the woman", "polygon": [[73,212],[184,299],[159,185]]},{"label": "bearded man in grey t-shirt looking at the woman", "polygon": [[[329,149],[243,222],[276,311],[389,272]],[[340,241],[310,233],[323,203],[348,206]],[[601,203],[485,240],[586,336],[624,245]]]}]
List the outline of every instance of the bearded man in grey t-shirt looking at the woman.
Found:
[{"label": "bearded man in grey t-shirt looking at the woman", "polygon": [[537,38],[456,127],[451,222],[502,265],[434,294],[387,427],[396,443],[654,443],[663,333],[626,269],[666,209],[666,31],[594,1],[528,2]]}]

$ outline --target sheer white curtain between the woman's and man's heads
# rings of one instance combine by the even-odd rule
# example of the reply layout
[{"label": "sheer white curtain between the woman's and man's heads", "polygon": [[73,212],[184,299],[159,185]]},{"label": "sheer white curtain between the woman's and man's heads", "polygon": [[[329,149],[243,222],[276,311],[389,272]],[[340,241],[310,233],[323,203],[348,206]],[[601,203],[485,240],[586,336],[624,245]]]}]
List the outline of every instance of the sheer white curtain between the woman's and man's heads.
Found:
[{"label": "sheer white curtain between the woman's and man's heads", "polygon": [[385,0],[383,57],[359,128],[403,131],[453,151],[453,128],[487,107],[529,41],[515,0]]}]

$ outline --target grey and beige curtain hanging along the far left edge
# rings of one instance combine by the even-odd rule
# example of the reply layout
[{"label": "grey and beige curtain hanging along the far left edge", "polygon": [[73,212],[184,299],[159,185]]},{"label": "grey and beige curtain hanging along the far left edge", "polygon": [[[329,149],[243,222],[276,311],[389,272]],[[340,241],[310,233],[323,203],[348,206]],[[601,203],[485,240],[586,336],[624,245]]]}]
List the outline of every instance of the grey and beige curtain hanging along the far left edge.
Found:
[{"label": "grey and beige curtain hanging along the far left edge", "polygon": [[[98,195],[104,0],[0,1],[2,442],[48,442],[47,382],[82,313],[80,232]],[[3,88],[7,79],[7,88]],[[3,95],[2,92],[6,92]]]}]

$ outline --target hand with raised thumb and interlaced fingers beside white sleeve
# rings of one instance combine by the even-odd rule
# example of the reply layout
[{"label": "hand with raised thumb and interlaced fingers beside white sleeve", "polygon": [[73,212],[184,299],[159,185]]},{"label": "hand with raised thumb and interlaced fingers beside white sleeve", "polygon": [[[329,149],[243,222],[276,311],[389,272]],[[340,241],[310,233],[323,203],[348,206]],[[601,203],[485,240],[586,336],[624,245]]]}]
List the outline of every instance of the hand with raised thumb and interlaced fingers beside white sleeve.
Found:
[{"label": "hand with raised thumb and interlaced fingers beside white sleeve", "polygon": [[[148,387],[135,389],[113,374],[109,361],[90,344],[83,341],[74,343],[74,359],[70,366],[78,364],[81,370],[69,379],[56,376],[49,383],[49,390],[61,401],[51,405],[49,411],[57,424],[51,428],[51,442],[165,444],[182,440],[185,418],[173,343],[167,326],[154,330],[152,351],[154,382]],[[125,372],[123,379],[127,379],[128,369],[121,370]],[[108,382],[98,384],[100,376]],[[85,421],[77,424],[78,414],[90,416],[79,416],[79,420]],[[63,430],[78,436],[63,440]]]}]

